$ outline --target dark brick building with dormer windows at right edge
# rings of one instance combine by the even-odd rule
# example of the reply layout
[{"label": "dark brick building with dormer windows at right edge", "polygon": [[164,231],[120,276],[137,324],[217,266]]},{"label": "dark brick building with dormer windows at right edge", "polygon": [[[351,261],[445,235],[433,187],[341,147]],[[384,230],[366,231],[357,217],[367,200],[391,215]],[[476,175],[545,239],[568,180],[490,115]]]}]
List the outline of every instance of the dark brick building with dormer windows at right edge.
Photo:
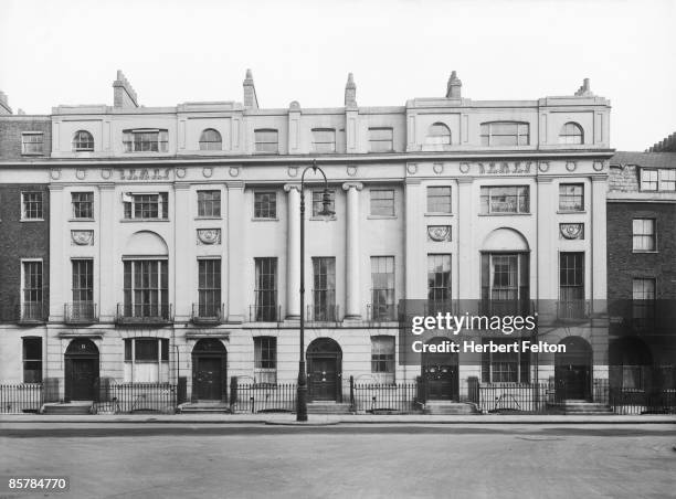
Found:
[{"label": "dark brick building with dormer windows at right edge", "polygon": [[676,152],[617,152],[608,194],[611,382],[674,389]]}]

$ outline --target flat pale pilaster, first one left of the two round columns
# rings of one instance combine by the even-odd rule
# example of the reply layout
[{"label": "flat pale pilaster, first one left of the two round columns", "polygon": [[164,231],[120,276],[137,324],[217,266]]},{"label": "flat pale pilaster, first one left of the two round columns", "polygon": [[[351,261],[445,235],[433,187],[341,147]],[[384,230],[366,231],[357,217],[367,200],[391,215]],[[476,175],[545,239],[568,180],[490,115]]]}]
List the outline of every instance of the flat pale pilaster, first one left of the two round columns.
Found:
[{"label": "flat pale pilaster, first one left of the two round columns", "polygon": [[228,321],[244,320],[247,286],[244,283],[245,238],[244,182],[226,182],[228,187]]}]

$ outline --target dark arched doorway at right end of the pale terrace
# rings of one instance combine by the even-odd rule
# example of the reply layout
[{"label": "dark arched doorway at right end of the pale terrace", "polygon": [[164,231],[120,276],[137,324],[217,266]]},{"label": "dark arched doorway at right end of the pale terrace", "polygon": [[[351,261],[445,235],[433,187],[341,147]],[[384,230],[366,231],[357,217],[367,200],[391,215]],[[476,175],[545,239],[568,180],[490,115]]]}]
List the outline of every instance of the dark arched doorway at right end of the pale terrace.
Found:
[{"label": "dark arched doorway at right end of the pale terrace", "polygon": [[556,354],[554,382],[559,400],[591,400],[592,349],[579,336],[559,341],[566,352]]}]

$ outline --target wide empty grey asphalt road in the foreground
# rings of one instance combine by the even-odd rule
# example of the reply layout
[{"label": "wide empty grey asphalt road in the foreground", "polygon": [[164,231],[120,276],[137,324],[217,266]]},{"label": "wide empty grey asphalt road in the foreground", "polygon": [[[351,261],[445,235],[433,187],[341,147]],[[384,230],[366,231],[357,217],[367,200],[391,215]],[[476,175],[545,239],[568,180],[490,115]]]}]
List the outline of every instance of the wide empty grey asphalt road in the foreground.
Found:
[{"label": "wide empty grey asphalt road in the foreground", "polygon": [[13,424],[0,475],[67,475],[77,498],[662,499],[674,446],[673,425]]}]

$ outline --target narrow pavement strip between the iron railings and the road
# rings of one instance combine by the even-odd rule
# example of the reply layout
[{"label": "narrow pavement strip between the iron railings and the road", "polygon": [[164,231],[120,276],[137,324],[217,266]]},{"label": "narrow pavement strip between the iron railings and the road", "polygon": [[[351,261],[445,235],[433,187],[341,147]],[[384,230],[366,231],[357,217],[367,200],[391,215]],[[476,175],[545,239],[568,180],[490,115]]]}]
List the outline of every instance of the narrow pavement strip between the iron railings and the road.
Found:
[{"label": "narrow pavement strip between the iron railings and the road", "polygon": [[[165,424],[296,424],[294,414],[96,414],[96,415],[44,415],[44,414],[1,414],[0,428],[13,423],[165,423]],[[644,415],[372,415],[372,414],[310,414],[308,425],[317,424],[676,424],[674,414]]]}]

